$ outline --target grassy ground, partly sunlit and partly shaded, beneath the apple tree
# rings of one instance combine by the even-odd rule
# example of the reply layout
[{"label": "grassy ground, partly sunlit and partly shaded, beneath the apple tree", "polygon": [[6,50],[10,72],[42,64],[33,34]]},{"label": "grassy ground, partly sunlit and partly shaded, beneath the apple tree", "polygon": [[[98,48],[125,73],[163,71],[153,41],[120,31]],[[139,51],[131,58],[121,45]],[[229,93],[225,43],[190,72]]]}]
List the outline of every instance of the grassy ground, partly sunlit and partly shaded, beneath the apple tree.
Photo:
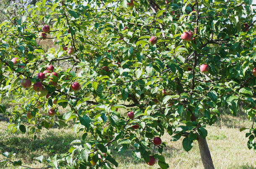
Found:
[{"label": "grassy ground, partly sunlit and partly shaded, beneath the apple tree", "polygon": [[[212,154],[213,163],[216,169],[256,169],[256,153],[246,146],[247,138],[245,131],[240,132],[240,127],[249,127],[245,116],[234,117],[222,115],[222,122],[219,120],[215,126],[209,126],[207,142]],[[76,139],[70,128],[42,130],[37,139],[33,141],[27,134],[16,131],[12,134],[7,129],[8,122],[0,118],[0,161],[5,159],[3,152],[16,153],[13,160],[21,160],[25,166],[34,168],[45,167],[47,164],[40,164],[33,160],[34,157],[44,155],[51,156],[55,153],[65,153],[70,142]],[[220,127],[222,126],[222,127]],[[182,141],[171,142],[170,136],[162,136],[167,142],[167,148],[163,154],[170,169],[203,169],[197,142],[189,152],[182,148]],[[131,156],[131,151],[123,154],[115,154],[119,166],[118,169],[157,169],[158,164],[153,167],[145,164],[143,160],[136,161]],[[29,161],[32,161],[29,163]],[[20,168],[16,167],[15,169]],[[21,167],[21,169],[24,167]],[[0,169],[14,169],[10,163],[0,163]]]}]

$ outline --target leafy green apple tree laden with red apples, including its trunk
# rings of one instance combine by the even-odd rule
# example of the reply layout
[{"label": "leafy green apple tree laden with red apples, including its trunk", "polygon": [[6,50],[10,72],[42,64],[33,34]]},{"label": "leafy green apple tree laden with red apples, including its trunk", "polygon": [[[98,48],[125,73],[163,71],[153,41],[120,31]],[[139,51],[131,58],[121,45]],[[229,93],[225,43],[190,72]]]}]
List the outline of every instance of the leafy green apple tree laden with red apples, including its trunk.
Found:
[{"label": "leafy green apple tree laden with red apples, including its trunk", "polygon": [[81,134],[66,154],[44,160],[48,167],[113,168],[112,154],[132,148],[134,158],[165,169],[167,133],[185,151],[198,141],[204,167],[213,169],[206,126],[219,108],[244,109],[252,126],[240,131],[256,151],[252,0],[16,5],[19,15],[0,10],[7,18],[0,24],[0,99],[16,104],[12,111],[1,104],[0,112],[34,139],[68,121]]}]

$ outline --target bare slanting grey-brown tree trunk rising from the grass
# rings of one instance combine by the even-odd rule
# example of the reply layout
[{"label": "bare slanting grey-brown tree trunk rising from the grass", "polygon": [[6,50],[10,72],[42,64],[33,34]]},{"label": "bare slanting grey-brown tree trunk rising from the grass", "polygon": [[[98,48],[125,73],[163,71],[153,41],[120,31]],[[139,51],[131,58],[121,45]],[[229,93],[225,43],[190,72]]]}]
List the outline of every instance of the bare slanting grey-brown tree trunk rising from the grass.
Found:
[{"label": "bare slanting grey-brown tree trunk rising from the grass", "polygon": [[206,139],[203,139],[201,136],[198,136],[197,141],[198,141],[201,160],[203,162],[204,169],[214,169],[211,153],[210,153]]}]

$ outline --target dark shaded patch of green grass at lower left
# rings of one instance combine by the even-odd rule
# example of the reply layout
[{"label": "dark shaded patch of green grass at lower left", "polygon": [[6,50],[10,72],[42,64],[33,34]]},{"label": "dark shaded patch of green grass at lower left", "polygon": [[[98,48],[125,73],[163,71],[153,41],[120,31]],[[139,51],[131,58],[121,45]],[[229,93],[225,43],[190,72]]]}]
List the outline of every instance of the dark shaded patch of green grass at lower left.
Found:
[{"label": "dark shaded patch of green grass at lower left", "polygon": [[27,134],[11,134],[9,137],[6,134],[0,134],[0,152],[16,153],[17,158],[26,159],[25,162],[29,162],[41,155],[66,153],[71,146],[71,141],[75,139],[74,134],[56,134],[52,131],[35,140],[29,139]]}]

